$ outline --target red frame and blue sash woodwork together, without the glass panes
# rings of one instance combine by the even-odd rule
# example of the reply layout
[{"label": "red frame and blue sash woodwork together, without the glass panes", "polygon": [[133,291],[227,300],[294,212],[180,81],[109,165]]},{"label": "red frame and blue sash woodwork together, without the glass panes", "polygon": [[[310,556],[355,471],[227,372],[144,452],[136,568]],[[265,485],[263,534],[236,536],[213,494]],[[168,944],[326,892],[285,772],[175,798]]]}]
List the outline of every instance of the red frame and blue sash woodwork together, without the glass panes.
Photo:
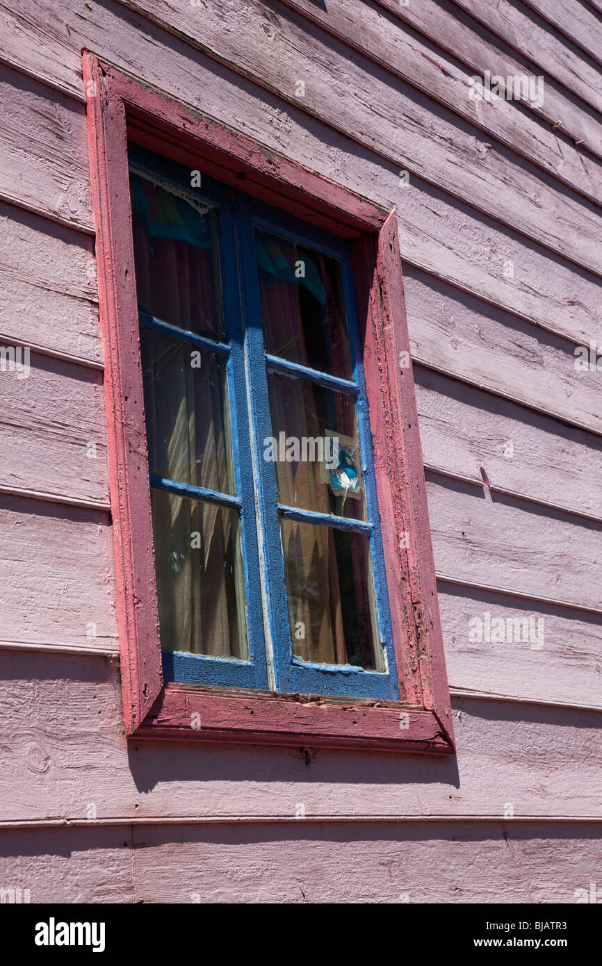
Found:
[{"label": "red frame and blue sash woodwork together, without the glass panes", "polygon": [[[398,365],[408,340],[394,213],[379,210],[295,162],[273,156],[244,135],[187,113],[179,102],[101,65],[87,53],[84,74],[98,225],[116,593],[128,733],[452,751],[412,372]],[[176,168],[172,162],[184,163],[187,170],[203,172],[199,196],[207,189],[211,195],[207,202],[214,206],[218,225],[227,328],[218,339],[207,332],[191,334],[164,319],[153,321],[149,312],[139,318],[127,146],[128,141],[133,145],[133,167],[144,166],[140,149],[154,148],[158,133],[161,153],[169,158],[162,162],[162,172],[154,172],[158,181],[161,177],[173,179]],[[212,184],[215,175],[225,184]],[[229,188],[238,190],[232,194]],[[266,355],[255,231],[294,241],[339,262],[351,335],[352,372],[346,375],[351,379],[311,366],[300,368],[299,362],[272,352]],[[236,250],[237,260],[224,258],[224,250],[230,255]],[[134,335],[140,322],[145,332],[154,333],[152,338],[171,339],[207,358],[215,357],[222,375],[225,368],[229,404],[222,421],[234,447],[230,482],[220,483],[225,489],[173,480],[159,466],[151,466],[149,480],[144,359],[141,361],[140,340]],[[327,393],[353,398],[359,414],[365,515],[354,509],[351,516],[333,521],[331,513],[328,520],[318,519],[320,511],[315,508],[307,510],[281,500],[278,505],[274,464],[263,460],[264,440],[272,437],[268,389],[272,376],[275,383],[293,379],[298,384],[302,376],[309,386],[319,384]],[[250,462],[242,459],[244,452],[250,453]],[[189,489],[186,493],[186,488],[194,487],[197,493]],[[165,678],[171,678],[166,681],[161,670],[157,580],[148,553],[153,539],[151,492],[159,500],[188,498],[215,513],[240,514],[240,536],[232,539],[235,543],[240,539],[244,547],[244,574],[239,574],[236,585],[244,583],[248,653],[244,642],[235,660],[171,652],[164,662]],[[251,493],[256,504],[254,520]],[[284,526],[358,533],[369,540],[370,582],[377,602],[373,608],[375,636],[385,644],[381,658],[377,641],[376,668],[340,667],[307,661],[300,655],[291,660],[294,645],[284,592],[282,521]],[[158,543],[157,538],[156,551]],[[256,560],[261,561],[260,586],[251,574],[258,569]],[[267,649],[264,632],[270,638]]]}]

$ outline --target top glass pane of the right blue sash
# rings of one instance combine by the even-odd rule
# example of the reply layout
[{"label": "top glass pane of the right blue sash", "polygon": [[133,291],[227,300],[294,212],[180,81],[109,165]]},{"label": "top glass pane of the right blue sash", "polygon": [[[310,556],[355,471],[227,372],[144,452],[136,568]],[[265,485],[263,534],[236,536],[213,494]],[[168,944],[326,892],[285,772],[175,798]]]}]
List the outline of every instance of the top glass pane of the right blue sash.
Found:
[{"label": "top glass pane of the right blue sash", "polygon": [[266,351],[352,379],[339,263],[259,230],[255,247]]}]

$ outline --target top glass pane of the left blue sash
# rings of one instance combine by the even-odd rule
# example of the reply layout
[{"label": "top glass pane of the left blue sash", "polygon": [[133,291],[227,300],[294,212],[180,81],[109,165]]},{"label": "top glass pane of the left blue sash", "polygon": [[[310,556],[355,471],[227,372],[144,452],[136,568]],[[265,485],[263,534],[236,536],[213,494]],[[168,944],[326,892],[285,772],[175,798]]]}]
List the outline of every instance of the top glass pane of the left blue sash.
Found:
[{"label": "top glass pane of the left blue sash", "polygon": [[130,172],[138,306],[161,322],[223,334],[217,219],[204,203]]}]

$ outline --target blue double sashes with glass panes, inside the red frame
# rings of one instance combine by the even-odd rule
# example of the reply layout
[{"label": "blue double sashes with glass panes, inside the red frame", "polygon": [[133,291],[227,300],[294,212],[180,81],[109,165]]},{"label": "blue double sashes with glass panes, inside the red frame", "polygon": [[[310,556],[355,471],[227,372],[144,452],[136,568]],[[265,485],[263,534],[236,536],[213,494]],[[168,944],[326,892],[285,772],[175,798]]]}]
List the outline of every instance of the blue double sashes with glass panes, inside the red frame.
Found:
[{"label": "blue double sashes with glass panes, inside the red frame", "polygon": [[165,678],[399,698],[349,244],[129,171]]}]

